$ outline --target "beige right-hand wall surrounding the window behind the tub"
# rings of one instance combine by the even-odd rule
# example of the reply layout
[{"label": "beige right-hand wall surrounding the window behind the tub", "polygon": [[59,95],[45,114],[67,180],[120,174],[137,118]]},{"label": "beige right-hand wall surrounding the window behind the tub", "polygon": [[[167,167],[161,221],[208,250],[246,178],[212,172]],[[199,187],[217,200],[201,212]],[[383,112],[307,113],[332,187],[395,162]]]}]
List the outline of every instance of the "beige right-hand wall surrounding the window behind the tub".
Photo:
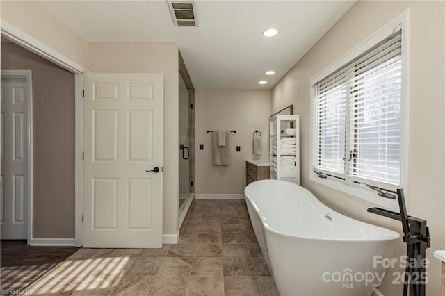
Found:
[{"label": "beige right-hand wall surrounding the window behind the tub", "polygon": [[[295,113],[300,114],[302,186],[341,213],[400,232],[400,222],[366,213],[372,204],[309,181],[309,80],[409,7],[412,45],[407,203],[410,215],[423,217],[430,225],[432,249],[427,251],[431,263],[427,294],[439,295],[440,264],[432,258],[432,252],[445,249],[444,2],[358,1],[275,85],[272,110],[294,104]],[[396,256],[403,254],[405,247],[401,242]],[[385,295],[401,295],[401,286],[391,285],[391,272],[387,272],[380,290]]]}]

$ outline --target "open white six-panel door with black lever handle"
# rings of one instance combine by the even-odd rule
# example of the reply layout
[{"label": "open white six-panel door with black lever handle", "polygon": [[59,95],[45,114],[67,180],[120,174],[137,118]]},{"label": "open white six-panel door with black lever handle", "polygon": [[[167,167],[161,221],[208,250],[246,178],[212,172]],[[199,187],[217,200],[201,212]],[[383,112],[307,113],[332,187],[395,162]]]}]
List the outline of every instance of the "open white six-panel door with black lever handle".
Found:
[{"label": "open white six-panel door with black lever handle", "polygon": [[161,247],[163,76],[86,74],[84,88],[83,246]]}]

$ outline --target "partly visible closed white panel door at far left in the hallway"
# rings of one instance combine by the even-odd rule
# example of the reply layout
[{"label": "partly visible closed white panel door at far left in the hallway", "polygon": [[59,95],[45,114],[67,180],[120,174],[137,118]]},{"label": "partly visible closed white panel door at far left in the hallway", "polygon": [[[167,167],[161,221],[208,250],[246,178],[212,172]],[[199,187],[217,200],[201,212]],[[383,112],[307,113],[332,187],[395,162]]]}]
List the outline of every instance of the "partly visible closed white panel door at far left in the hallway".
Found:
[{"label": "partly visible closed white panel door at far left in the hallway", "polygon": [[1,239],[25,239],[28,98],[26,79],[1,80]]}]

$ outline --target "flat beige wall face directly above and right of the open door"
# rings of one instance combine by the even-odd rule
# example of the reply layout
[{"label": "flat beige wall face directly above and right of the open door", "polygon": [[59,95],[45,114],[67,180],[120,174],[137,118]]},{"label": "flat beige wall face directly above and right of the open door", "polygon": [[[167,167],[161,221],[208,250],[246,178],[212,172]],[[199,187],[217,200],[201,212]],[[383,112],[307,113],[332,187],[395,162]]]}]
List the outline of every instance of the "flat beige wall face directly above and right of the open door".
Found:
[{"label": "flat beige wall face directly above and right of the open door", "polygon": [[175,43],[91,43],[91,72],[162,73],[163,104],[163,233],[176,234],[178,220],[178,47]]}]

